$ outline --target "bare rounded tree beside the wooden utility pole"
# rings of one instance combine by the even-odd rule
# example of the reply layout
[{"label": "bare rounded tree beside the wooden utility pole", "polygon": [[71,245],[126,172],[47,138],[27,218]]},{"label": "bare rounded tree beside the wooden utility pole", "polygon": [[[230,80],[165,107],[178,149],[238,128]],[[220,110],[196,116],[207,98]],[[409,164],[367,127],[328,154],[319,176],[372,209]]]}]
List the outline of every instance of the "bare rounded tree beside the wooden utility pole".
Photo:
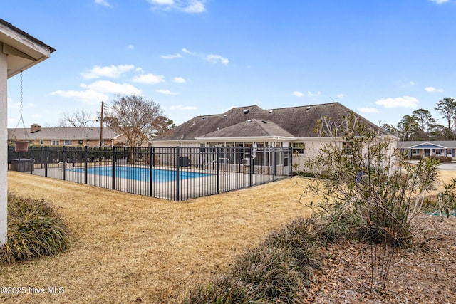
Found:
[{"label": "bare rounded tree beside the wooden utility pole", "polygon": [[160,104],[134,94],[118,95],[106,110],[106,125],[122,133],[129,147],[146,145],[162,116]]}]

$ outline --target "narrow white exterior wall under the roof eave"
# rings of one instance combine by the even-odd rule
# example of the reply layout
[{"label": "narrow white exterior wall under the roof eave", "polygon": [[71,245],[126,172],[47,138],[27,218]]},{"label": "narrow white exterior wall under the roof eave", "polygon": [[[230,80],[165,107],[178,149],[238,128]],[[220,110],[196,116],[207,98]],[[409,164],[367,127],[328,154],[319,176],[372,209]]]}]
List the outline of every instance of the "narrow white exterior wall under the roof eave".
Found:
[{"label": "narrow white exterior wall under the roof eave", "polygon": [[[1,46],[1,43],[0,43]],[[8,185],[6,173],[8,170],[8,94],[6,84],[8,80],[8,66],[6,55],[0,52],[0,247],[6,243],[7,232],[7,207],[8,207]]]}]

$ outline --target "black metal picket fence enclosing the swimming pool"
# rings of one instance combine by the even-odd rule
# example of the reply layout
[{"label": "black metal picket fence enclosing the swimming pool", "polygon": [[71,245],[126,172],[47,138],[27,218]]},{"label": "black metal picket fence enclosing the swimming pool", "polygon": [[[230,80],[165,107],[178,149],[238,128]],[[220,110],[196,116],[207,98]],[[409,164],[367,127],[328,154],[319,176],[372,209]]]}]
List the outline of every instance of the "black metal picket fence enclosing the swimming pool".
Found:
[{"label": "black metal picket fence enclosing the swimming pool", "polygon": [[291,177],[289,148],[9,147],[10,170],[180,201]]}]

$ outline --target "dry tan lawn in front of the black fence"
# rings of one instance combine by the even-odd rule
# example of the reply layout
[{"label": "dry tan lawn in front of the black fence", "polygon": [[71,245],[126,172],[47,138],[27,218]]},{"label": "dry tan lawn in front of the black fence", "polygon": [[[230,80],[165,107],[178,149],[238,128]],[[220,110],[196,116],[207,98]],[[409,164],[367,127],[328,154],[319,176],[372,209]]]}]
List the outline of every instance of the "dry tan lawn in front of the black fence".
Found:
[{"label": "dry tan lawn in front of the black fence", "polygon": [[[8,172],[9,192],[58,207],[74,240],[58,256],[0,266],[1,303],[166,303],[225,271],[273,229],[309,214],[305,179],[185,202]],[[36,295],[28,287],[62,287]],[[47,291],[47,289],[46,289]]]}]

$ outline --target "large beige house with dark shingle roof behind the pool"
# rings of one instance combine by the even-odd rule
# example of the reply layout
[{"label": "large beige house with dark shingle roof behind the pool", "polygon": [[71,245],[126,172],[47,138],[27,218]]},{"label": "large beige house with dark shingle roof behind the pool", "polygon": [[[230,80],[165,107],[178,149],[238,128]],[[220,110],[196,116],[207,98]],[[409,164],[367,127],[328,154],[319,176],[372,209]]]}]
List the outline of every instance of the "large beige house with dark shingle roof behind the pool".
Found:
[{"label": "large beige house with dark shingle roof behind the pool", "polygon": [[[316,122],[356,115],[379,134],[385,131],[341,103],[292,108],[261,109],[257,105],[232,108],[215,115],[200,115],[151,140],[154,147],[292,147],[296,158],[309,157],[329,137],[318,135]],[[390,135],[395,147],[398,137]],[[343,143],[341,142],[341,145]]]}]

